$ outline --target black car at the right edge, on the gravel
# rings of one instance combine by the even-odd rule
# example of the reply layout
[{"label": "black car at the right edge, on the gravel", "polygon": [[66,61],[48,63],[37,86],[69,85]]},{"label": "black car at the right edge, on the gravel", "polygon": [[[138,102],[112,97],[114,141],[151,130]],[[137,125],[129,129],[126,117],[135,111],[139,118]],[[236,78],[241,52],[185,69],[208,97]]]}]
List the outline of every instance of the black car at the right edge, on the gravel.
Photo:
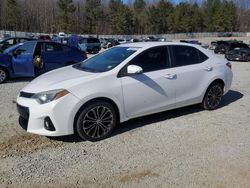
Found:
[{"label": "black car at the right edge, on the gravel", "polygon": [[244,44],[234,48],[225,54],[225,58],[229,61],[250,61],[250,47]]}]

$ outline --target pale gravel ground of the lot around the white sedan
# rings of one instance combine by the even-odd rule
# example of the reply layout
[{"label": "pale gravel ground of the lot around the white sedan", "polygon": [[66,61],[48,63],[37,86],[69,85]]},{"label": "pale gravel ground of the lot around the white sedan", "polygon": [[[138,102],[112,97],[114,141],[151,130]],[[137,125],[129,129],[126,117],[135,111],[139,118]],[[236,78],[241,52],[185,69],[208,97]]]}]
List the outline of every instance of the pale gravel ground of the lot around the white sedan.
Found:
[{"label": "pale gravel ground of the lot around the white sedan", "polygon": [[250,187],[250,63],[233,62],[221,107],[197,105],[119,125],[97,143],[23,131],[0,85],[0,187]]}]

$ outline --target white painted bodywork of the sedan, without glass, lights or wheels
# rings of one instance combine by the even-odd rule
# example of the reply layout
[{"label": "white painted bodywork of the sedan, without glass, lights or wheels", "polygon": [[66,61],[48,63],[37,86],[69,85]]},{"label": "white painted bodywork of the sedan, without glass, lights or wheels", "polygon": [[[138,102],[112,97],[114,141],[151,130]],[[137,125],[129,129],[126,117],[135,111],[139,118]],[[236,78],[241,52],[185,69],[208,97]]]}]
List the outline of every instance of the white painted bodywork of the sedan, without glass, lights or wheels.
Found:
[{"label": "white painted bodywork of the sedan, without glass, lights or wheels", "polygon": [[[135,56],[156,46],[193,46],[206,54],[203,63],[146,72],[119,78],[118,72]],[[66,89],[69,94],[39,104],[35,99],[19,96],[17,103],[29,108],[27,131],[40,135],[61,136],[74,133],[74,118],[78,110],[95,98],[108,98],[118,107],[120,122],[177,107],[202,102],[208,86],[216,79],[225,83],[224,94],[232,83],[232,72],[227,61],[209,51],[186,43],[142,42],[119,45],[137,51],[118,66],[102,73],[85,72],[72,66],[57,69],[36,78],[22,92],[39,93]],[[116,48],[116,47],[114,47]],[[131,71],[137,70],[130,67]],[[137,67],[138,68],[138,67]],[[44,128],[44,118],[50,117],[56,130]]]}]

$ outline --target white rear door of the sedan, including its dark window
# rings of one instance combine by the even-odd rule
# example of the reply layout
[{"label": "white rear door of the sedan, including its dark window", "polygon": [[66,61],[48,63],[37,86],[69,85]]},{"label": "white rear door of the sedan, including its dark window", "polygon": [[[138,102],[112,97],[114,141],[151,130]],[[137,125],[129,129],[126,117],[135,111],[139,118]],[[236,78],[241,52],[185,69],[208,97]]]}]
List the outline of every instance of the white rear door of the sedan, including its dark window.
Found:
[{"label": "white rear door of the sedan, including its dark window", "polygon": [[200,102],[213,72],[208,57],[192,46],[171,45],[170,49],[176,73],[176,106]]}]

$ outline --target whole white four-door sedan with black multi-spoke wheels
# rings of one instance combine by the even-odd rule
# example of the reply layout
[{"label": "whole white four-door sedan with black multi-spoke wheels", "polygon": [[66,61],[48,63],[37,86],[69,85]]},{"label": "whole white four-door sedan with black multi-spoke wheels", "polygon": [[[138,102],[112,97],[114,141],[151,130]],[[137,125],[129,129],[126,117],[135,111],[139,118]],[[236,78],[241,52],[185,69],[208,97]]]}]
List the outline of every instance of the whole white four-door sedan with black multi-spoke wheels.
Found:
[{"label": "whole white four-door sedan with black multi-spoke wheels", "polygon": [[17,98],[19,123],[35,134],[98,141],[131,118],[196,103],[216,109],[232,77],[229,62],[197,45],[123,44],[29,83]]}]

